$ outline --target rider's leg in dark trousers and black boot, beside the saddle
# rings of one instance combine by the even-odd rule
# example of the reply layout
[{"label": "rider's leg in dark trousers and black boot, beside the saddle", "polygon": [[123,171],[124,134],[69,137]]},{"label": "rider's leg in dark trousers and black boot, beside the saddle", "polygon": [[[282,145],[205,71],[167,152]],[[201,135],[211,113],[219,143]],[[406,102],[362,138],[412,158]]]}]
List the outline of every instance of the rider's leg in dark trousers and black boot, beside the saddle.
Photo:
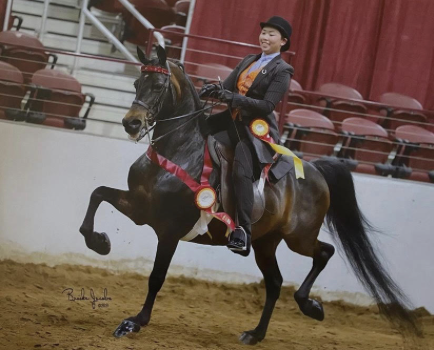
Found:
[{"label": "rider's leg in dark trousers and black boot, beside the saddle", "polygon": [[248,256],[251,248],[253,211],[253,161],[248,145],[240,141],[235,148],[232,180],[234,183],[238,226],[229,236],[227,247],[236,254]]}]

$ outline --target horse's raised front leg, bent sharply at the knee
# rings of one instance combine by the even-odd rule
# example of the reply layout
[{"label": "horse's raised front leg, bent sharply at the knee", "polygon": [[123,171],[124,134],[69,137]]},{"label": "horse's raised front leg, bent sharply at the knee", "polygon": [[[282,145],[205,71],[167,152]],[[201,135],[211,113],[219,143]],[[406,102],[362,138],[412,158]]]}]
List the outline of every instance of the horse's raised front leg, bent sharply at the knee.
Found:
[{"label": "horse's raised front leg, bent sharply at the knee", "polygon": [[110,203],[130,219],[133,219],[132,215],[134,210],[132,195],[129,191],[121,191],[115,188],[101,186],[92,192],[86,216],[80,227],[80,233],[84,236],[89,249],[94,250],[98,254],[107,255],[111,247],[109,237],[104,232],[99,233],[94,231],[95,213],[101,202]]}]

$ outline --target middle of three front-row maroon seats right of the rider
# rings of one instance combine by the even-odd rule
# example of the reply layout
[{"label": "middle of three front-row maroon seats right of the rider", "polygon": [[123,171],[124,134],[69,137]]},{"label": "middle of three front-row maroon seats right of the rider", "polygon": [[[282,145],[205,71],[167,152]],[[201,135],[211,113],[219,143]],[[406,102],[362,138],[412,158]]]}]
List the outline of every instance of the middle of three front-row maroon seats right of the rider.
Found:
[{"label": "middle of three front-row maroon seats right of the rider", "polygon": [[353,163],[354,171],[389,175],[392,168],[387,162],[393,142],[383,127],[364,118],[352,117],[343,121],[342,133],[345,136],[338,156]]}]

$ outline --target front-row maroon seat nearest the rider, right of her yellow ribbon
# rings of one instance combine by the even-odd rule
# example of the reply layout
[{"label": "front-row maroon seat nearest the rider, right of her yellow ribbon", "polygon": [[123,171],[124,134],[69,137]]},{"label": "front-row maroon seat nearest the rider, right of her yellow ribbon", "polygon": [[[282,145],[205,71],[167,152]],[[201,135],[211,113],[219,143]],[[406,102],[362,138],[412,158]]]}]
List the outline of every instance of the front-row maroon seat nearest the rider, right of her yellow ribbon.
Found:
[{"label": "front-row maroon seat nearest the rider, right of her yellow ribbon", "polygon": [[309,109],[295,109],[286,115],[283,139],[285,146],[304,160],[313,160],[334,154],[339,136],[333,123],[323,115]]}]

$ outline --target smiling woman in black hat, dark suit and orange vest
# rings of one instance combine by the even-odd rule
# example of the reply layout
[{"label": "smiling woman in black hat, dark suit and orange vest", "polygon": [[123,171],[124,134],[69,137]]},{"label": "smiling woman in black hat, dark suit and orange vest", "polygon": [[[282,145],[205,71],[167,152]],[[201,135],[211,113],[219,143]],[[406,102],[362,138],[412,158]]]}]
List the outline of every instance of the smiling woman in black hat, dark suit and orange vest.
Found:
[{"label": "smiling woman in black hat, dark suit and orange vest", "polygon": [[274,151],[250,130],[254,119],[265,120],[269,134],[279,143],[279,131],[273,111],[289,88],[293,68],[280,52],[290,46],[292,27],[282,17],[261,22],[261,54],[246,56],[223,82],[204,85],[200,96],[217,97],[229,109],[208,118],[214,137],[235,149],[232,179],[235,188],[238,226],[231,233],[227,247],[247,256],[251,247],[254,169],[273,163]]}]

